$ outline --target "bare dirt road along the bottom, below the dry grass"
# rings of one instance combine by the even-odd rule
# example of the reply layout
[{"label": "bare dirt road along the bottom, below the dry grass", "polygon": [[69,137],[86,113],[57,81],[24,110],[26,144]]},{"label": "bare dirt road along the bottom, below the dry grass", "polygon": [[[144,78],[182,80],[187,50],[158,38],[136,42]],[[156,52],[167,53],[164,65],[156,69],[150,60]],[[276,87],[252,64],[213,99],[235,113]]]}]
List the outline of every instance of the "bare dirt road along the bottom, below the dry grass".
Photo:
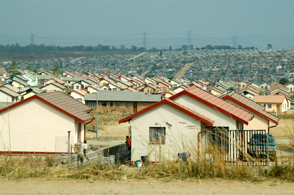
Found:
[{"label": "bare dirt road along the bottom, below the dry grass", "polygon": [[0,181],[0,195],[293,195],[293,183],[242,181]]}]

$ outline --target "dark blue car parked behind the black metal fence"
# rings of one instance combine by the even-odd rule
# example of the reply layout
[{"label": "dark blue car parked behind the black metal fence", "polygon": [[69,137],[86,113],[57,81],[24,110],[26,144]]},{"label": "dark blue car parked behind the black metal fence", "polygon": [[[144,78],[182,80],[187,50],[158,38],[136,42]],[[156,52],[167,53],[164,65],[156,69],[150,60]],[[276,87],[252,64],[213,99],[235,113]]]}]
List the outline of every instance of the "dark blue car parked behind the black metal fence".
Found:
[{"label": "dark blue car parked behind the black metal fence", "polygon": [[[268,144],[267,144],[268,138]],[[267,147],[269,146],[269,149]],[[271,134],[266,133],[255,133],[251,136],[250,141],[247,143],[247,153],[254,158],[269,157],[271,160],[276,159],[276,143]]]}]

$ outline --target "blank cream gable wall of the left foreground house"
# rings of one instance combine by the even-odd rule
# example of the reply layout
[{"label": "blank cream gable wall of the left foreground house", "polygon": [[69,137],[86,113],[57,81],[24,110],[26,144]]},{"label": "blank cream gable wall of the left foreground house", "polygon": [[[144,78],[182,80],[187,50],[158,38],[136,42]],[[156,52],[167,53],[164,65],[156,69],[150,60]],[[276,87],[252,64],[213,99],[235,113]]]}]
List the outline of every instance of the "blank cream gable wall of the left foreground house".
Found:
[{"label": "blank cream gable wall of the left foreground house", "polygon": [[[9,109],[9,120],[8,111],[1,115],[0,151],[67,152],[69,130],[72,131],[71,143],[77,141],[77,122],[36,98]],[[83,130],[84,125],[81,126]]]}]

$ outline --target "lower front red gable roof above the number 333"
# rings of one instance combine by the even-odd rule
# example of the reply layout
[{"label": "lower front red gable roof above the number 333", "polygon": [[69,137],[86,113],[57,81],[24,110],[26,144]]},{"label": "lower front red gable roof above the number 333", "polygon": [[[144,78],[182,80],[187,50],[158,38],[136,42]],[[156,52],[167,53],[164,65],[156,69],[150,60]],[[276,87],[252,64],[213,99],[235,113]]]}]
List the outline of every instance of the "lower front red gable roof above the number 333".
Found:
[{"label": "lower front red gable roof above the number 333", "polygon": [[129,121],[132,118],[134,118],[135,116],[138,116],[138,115],[140,115],[140,114],[142,114],[142,113],[144,113],[144,112],[146,112],[146,111],[148,111],[148,110],[150,110],[152,108],[158,107],[158,106],[160,106],[162,104],[168,104],[168,105],[170,105],[170,106],[172,106],[174,108],[177,108],[178,110],[181,110],[182,112],[185,112],[186,114],[198,119],[199,121],[202,121],[203,123],[206,123],[207,125],[213,126],[213,123],[214,123],[213,120],[203,116],[202,114],[199,114],[198,112],[196,112],[196,111],[194,111],[194,110],[192,110],[190,108],[184,107],[183,105],[181,105],[181,104],[179,104],[179,103],[177,103],[175,101],[172,101],[169,98],[161,100],[160,102],[157,102],[157,103],[155,103],[155,104],[153,104],[153,105],[151,105],[151,106],[149,106],[147,108],[144,108],[144,109],[140,110],[139,112],[136,112],[136,113],[134,113],[132,115],[129,115],[129,116],[123,118],[122,120],[119,121],[119,124],[124,123],[126,121]]}]

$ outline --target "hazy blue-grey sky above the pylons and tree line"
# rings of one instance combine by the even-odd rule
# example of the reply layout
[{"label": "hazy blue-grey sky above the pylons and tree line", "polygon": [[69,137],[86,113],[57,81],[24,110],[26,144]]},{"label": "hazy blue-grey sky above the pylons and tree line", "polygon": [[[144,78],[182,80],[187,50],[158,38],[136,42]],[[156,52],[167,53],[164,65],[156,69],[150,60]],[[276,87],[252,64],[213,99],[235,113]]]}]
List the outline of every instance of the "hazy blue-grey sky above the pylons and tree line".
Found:
[{"label": "hazy blue-grey sky above the pylons and tree line", "polygon": [[187,31],[199,46],[233,44],[233,36],[245,46],[277,36],[289,43],[293,7],[293,0],[0,0],[0,44],[28,44],[34,34],[35,44],[142,46],[143,31],[147,47],[187,44]]}]

